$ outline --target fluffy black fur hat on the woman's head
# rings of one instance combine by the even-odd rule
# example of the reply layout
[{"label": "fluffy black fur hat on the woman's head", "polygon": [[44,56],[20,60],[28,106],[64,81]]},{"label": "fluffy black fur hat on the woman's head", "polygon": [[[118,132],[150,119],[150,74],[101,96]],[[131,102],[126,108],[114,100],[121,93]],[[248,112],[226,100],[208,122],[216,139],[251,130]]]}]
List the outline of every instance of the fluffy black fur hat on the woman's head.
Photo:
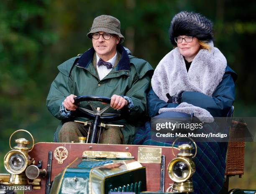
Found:
[{"label": "fluffy black fur hat on the woman's head", "polygon": [[174,38],[179,35],[197,37],[198,40],[213,40],[212,22],[199,13],[182,11],[174,15],[169,28],[169,36],[173,45]]}]

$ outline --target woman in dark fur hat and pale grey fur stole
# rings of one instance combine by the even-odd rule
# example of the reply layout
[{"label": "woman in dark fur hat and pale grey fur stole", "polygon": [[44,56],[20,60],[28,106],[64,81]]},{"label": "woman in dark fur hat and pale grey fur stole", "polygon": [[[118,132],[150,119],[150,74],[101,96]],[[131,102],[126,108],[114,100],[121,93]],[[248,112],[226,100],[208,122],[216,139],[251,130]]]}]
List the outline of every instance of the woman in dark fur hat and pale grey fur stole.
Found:
[{"label": "woman in dark fur hat and pale grey fur stole", "polygon": [[[173,17],[169,36],[174,49],[159,62],[152,77],[149,116],[174,111],[194,113],[205,122],[226,117],[234,102],[237,76],[213,47],[212,22],[198,13],[182,11]],[[197,146],[195,193],[218,194],[224,182],[227,143],[197,142]]]}]

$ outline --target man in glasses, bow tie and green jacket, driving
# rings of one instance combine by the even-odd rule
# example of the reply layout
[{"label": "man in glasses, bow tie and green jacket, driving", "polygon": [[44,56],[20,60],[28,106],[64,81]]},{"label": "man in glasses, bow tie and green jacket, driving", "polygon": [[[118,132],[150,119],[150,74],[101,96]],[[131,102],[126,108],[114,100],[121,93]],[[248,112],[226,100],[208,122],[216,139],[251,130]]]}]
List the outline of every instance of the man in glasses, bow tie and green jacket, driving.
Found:
[{"label": "man in glasses, bow tie and green jacket, driving", "polygon": [[[78,106],[90,109],[88,103],[74,104],[74,97],[97,95],[111,97],[108,112],[125,112],[125,118],[118,121],[125,127],[108,127],[102,132],[100,143],[131,144],[136,127],[146,115],[146,93],[153,75],[151,65],[128,55],[120,45],[124,37],[120,33],[120,21],[109,15],[101,15],[93,21],[87,37],[93,47],[81,56],[73,57],[58,66],[59,74],[51,84],[46,105],[59,125],[55,138],[57,142],[78,142],[83,136],[83,124],[73,122],[88,120],[75,118]],[[129,53],[131,54],[131,53]],[[94,102],[96,107],[105,106]]]}]

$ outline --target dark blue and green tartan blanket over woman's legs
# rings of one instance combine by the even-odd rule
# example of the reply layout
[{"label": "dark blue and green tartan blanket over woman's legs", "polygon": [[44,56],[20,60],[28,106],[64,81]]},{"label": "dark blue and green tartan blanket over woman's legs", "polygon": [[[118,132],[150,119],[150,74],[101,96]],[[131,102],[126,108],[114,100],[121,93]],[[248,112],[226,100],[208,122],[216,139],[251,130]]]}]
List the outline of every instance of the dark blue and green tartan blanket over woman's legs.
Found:
[{"label": "dark blue and green tartan blanket over woman's legs", "polygon": [[[181,143],[184,142],[178,142]],[[151,138],[150,122],[137,130],[133,144],[172,146],[172,143],[158,142]],[[224,183],[227,147],[228,142],[197,142],[197,155],[194,158],[196,172],[192,177],[194,194],[220,192]]]}]

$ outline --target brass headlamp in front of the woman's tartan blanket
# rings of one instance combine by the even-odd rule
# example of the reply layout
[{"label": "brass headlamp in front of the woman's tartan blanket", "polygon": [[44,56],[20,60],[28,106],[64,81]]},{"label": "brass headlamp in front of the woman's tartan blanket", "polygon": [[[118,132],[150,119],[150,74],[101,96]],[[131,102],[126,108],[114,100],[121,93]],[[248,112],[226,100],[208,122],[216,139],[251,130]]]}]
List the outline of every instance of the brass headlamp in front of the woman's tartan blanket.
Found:
[{"label": "brass headlamp in front of the woman's tartan blanket", "polygon": [[[175,141],[173,142],[172,146],[174,146]],[[172,192],[194,191],[192,176],[195,173],[195,163],[192,161],[192,159],[197,154],[197,146],[194,141],[193,143],[195,145],[195,154],[192,154],[192,149],[194,149],[192,145],[179,145],[178,149],[180,152],[177,154],[177,157],[172,159],[172,161],[168,164],[168,175],[174,181]],[[172,153],[174,154],[173,149]]]}]

